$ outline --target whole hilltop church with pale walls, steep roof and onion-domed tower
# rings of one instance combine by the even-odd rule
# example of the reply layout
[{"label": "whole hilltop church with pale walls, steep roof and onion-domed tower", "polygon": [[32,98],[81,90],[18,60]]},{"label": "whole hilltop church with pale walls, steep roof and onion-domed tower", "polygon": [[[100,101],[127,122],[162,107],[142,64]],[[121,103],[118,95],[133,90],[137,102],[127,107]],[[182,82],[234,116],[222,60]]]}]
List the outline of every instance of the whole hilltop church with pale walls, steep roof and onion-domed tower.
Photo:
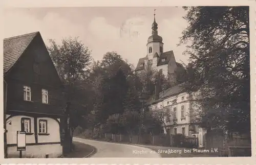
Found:
[{"label": "whole hilltop church with pale walls, steep roof and onion-domed tower", "polygon": [[140,58],[135,69],[137,75],[151,67],[153,70],[162,70],[165,76],[175,78],[175,70],[178,67],[184,68],[181,63],[176,62],[173,51],[164,52],[163,38],[158,35],[158,25],[154,14],[152,23],[152,35],[147,39],[147,55]]}]

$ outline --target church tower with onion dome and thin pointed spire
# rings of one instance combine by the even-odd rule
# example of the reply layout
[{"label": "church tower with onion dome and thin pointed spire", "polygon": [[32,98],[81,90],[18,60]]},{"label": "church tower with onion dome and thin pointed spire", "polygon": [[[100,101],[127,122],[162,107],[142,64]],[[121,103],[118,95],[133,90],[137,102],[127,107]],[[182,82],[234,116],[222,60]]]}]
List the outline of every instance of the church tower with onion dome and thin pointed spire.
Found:
[{"label": "church tower with onion dome and thin pointed spire", "polygon": [[159,56],[163,53],[163,39],[158,35],[158,25],[156,14],[154,13],[154,22],[152,23],[152,35],[147,39],[147,58],[153,66],[157,65]]}]

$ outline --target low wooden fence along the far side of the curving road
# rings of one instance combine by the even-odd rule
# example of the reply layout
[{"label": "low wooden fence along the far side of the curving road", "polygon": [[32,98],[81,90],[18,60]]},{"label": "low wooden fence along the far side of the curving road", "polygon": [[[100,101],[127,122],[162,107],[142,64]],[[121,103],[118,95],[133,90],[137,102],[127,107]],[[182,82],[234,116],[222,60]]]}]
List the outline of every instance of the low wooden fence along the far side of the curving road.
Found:
[{"label": "low wooden fence along the far side of the curving road", "polygon": [[[74,136],[82,136],[85,138],[102,139],[113,142],[124,142],[131,144],[142,144],[142,145],[154,145],[154,146],[172,146],[172,147],[188,147],[184,146],[184,143],[191,145],[193,148],[198,148],[198,138],[185,137],[181,140],[181,144],[177,145],[174,143],[173,136],[167,136],[166,134],[150,135],[142,134],[139,135],[123,135],[123,134],[112,134],[112,133],[93,133],[92,131],[77,131],[74,132]],[[215,148],[218,149],[220,156],[233,156],[242,155],[249,156],[251,154],[251,139],[243,137],[225,137],[223,134],[212,133],[211,135],[206,134],[205,138],[205,149]]]}]

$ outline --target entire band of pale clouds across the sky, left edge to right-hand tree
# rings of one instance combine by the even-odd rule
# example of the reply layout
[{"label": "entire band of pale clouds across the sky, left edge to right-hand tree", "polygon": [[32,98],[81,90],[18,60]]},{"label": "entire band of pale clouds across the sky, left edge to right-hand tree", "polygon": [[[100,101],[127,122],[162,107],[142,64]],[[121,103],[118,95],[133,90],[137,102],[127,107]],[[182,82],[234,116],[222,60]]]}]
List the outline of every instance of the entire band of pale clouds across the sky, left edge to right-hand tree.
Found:
[{"label": "entire band of pale clouds across the sky, left edge to right-hand tree", "polygon": [[[157,18],[158,32],[163,37],[164,51],[174,50],[177,62],[182,60],[187,63],[187,57],[182,55],[185,47],[176,46],[178,37],[187,26],[181,16],[183,15],[162,20]],[[111,23],[109,19],[92,16],[91,21],[85,23],[81,15],[81,21],[74,23],[53,11],[38,18],[33,12],[11,10],[5,12],[5,38],[39,31],[48,44],[48,39],[55,39],[59,43],[62,38],[79,36],[79,39],[92,50],[95,60],[102,59],[106,52],[115,51],[123,59],[137,65],[138,59],[146,56],[146,43],[151,35],[152,18],[137,15],[123,20],[119,26]]]}]

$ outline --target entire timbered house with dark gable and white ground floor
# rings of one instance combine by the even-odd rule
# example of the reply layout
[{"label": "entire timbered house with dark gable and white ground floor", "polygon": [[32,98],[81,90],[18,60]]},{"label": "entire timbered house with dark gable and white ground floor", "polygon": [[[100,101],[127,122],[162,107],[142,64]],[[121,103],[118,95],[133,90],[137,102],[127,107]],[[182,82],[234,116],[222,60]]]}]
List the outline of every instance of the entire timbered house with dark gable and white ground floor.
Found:
[{"label": "entire timbered house with dark gable and white ground floor", "polygon": [[61,155],[62,100],[62,81],[40,33],[5,38],[5,157],[19,157],[17,131],[26,132],[22,157]]}]

